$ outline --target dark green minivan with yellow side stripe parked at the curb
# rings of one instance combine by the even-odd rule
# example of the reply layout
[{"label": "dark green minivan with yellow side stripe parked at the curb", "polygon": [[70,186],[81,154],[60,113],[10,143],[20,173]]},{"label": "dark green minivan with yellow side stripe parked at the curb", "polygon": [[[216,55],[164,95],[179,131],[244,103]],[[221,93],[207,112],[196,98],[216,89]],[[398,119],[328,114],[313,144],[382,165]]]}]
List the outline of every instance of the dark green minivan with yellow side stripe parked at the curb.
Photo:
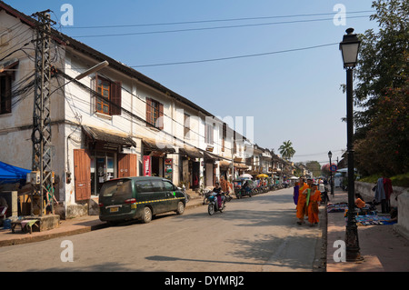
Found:
[{"label": "dark green minivan with yellow side stripe parked at the curb", "polygon": [[183,192],[163,177],[123,177],[106,181],[99,194],[99,219],[108,223],[140,219],[149,223],[154,215],[185,212]]}]

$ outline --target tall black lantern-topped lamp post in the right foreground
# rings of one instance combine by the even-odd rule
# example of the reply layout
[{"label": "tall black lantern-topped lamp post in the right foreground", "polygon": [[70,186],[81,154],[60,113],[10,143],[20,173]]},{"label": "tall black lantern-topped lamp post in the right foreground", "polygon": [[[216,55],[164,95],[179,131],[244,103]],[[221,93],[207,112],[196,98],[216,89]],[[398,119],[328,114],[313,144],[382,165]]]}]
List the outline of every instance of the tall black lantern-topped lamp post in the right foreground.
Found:
[{"label": "tall black lantern-topped lamp post in the right foreground", "polygon": [[358,50],[361,44],[354,28],[346,29],[339,49],[343,55],[344,69],[346,69],[346,150],[348,153],[348,221],[345,230],[346,261],[361,260],[358,228],[355,220],[354,203],[354,99],[353,99],[353,71],[357,63]]}]

